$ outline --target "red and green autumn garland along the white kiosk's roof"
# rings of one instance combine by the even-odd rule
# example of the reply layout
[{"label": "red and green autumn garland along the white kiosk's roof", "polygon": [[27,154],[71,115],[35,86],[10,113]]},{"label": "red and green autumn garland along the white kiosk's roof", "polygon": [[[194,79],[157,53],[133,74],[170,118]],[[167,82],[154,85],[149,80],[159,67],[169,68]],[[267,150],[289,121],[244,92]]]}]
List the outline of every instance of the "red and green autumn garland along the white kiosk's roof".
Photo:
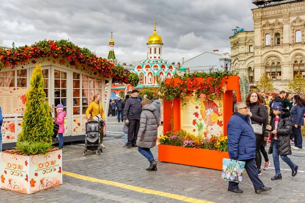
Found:
[{"label": "red and green autumn garland along the white kiosk's roof", "polygon": [[87,48],[80,48],[67,40],[39,41],[31,46],[14,47],[5,50],[0,49],[0,70],[5,64],[10,64],[12,69],[18,65],[25,65],[27,61],[36,63],[37,59],[45,57],[58,58],[62,56],[69,60],[70,65],[76,63],[86,64],[93,70],[103,74],[105,77],[113,77],[113,82],[132,84],[136,86],[139,82],[137,74],[130,73],[123,66],[109,63],[105,58],[99,58]]}]

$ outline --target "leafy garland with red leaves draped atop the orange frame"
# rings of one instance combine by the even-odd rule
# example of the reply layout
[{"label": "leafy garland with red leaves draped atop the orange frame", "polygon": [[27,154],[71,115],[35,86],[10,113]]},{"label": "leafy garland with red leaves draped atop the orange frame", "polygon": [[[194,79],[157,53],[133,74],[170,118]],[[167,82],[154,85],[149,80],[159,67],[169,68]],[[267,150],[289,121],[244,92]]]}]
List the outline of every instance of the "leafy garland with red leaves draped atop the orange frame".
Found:
[{"label": "leafy garland with red leaves draped atop the orange frame", "polygon": [[[221,86],[221,83],[224,77],[227,78],[229,76],[236,76],[236,74],[228,71],[217,71],[210,73],[195,72],[182,76],[174,75],[174,78],[180,79],[179,85],[175,86],[173,81],[169,84],[166,84],[165,81],[159,81],[158,90],[161,93],[160,97],[164,98],[165,101],[173,101],[174,98],[180,98],[182,106],[186,105],[184,98],[187,96],[189,87],[193,89],[192,95],[197,98],[207,95],[214,100],[226,91],[226,85]],[[196,78],[203,78],[203,81],[198,82],[195,80]]]}]

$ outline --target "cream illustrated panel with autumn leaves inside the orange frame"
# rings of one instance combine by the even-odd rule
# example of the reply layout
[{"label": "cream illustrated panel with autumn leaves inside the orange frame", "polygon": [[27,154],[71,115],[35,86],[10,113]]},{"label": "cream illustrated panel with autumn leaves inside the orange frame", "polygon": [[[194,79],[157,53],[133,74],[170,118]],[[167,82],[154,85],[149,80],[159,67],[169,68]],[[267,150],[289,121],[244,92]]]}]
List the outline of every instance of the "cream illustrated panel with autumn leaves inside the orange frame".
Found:
[{"label": "cream illustrated panel with autumn leaves inside the orange frame", "polygon": [[212,100],[204,94],[200,98],[190,93],[181,109],[181,129],[195,136],[210,138],[223,134],[223,99]]}]

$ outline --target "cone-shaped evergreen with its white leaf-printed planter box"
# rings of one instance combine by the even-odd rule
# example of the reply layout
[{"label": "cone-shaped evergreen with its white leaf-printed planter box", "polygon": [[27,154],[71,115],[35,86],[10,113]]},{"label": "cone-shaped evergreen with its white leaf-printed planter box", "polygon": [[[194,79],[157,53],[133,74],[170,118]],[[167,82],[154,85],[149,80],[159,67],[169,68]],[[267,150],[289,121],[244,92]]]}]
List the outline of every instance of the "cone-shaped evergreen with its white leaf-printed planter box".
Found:
[{"label": "cone-shaped evergreen with its white leaf-printed planter box", "polygon": [[2,152],[0,159],[1,188],[26,194],[63,182],[62,150],[52,147],[53,121],[40,65],[30,85],[16,148]]}]

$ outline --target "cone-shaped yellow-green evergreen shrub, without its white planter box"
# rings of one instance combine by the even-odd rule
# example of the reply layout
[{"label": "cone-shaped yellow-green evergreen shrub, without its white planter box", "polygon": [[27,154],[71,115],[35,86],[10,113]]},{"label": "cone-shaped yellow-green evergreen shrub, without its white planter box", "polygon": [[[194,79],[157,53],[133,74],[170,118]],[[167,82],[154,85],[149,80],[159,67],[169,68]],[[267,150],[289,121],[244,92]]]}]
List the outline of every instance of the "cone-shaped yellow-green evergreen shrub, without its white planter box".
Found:
[{"label": "cone-shaped yellow-green evergreen shrub, without its white planter box", "polygon": [[42,67],[36,65],[26,92],[25,112],[16,149],[25,154],[45,154],[52,146],[53,121],[46,102]]}]

